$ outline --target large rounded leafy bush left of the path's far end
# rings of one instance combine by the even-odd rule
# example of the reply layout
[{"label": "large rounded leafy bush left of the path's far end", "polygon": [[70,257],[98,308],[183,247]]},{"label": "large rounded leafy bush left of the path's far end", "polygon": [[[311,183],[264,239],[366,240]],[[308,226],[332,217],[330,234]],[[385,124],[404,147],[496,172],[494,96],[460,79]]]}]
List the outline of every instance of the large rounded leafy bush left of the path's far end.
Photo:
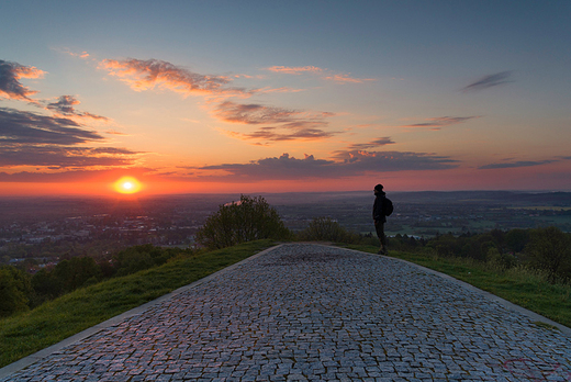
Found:
[{"label": "large rounded leafy bush left of the path's far end", "polygon": [[210,249],[231,247],[262,238],[284,239],[290,231],[278,212],[261,196],[242,195],[238,202],[220,205],[197,233],[197,241]]}]

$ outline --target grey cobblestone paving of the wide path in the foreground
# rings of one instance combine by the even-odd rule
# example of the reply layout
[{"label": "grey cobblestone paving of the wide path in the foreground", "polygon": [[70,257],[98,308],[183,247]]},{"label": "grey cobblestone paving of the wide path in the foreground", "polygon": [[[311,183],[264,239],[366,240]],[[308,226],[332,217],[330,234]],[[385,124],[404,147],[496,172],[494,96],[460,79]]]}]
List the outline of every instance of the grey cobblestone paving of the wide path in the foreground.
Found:
[{"label": "grey cobblestone paving of the wide path in the foreground", "polygon": [[396,259],[288,244],[2,381],[571,381],[571,337]]}]

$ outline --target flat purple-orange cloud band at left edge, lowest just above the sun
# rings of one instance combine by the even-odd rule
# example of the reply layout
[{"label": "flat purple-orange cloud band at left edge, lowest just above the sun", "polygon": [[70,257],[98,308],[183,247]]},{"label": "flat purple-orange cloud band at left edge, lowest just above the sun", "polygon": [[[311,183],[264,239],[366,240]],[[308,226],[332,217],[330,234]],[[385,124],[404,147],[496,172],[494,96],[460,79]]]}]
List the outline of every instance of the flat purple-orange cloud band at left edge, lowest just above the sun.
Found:
[{"label": "flat purple-orange cloud band at left edge, lowest just above the sun", "polygon": [[61,147],[20,145],[0,147],[0,167],[54,168],[130,166],[139,153],[114,147]]}]

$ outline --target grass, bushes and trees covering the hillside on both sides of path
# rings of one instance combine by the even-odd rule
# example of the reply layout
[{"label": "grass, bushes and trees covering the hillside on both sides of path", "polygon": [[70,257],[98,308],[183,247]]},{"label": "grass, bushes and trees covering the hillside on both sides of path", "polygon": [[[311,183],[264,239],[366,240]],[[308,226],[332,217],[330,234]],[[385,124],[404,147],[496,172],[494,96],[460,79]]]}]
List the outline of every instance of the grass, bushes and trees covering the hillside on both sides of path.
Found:
[{"label": "grass, bushes and trees covering the hillside on both sides of path", "polygon": [[[204,249],[135,246],[99,262],[65,258],[34,276],[1,267],[0,367],[240,261],[276,240],[333,241],[373,254],[379,244],[329,217],[316,217],[292,233],[261,196],[244,195],[239,202],[221,205],[197,240]],[[558,228],[495,229],[432,239],[396,235],[388,246],[390,256],[450,274],[571,326],[571,238]]]}]

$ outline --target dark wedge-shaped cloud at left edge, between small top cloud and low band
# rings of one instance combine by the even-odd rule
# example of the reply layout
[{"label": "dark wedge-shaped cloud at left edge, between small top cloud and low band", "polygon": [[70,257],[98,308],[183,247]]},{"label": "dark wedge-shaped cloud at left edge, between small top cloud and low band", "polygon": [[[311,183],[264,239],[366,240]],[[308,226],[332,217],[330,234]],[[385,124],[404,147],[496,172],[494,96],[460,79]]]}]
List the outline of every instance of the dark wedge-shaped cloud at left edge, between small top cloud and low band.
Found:
[{"label": "dark wedge-shaped cloud at left edge, between small top cloud and low band", "polygon": [[101,141],[93,131],[66,117],[53,117],[0,108],[0,144],[76,145]]}]

